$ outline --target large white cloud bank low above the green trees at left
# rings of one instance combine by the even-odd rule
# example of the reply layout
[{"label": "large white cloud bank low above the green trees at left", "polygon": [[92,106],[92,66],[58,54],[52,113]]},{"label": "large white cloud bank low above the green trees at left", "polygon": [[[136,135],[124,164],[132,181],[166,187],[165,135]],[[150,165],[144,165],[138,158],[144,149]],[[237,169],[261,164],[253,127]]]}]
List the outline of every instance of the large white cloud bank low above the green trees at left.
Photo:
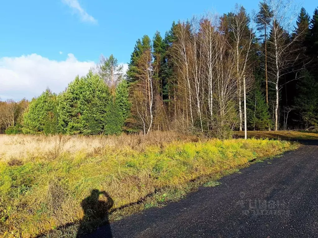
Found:
[{"label": "large white cloud bank low above the green trees at left", "polygon": [[37,54],[0,58],[0,97],[30,100],[46,87],[59,93],[76,75],[86,75],[94,65],[93,61],[78,61],[73,54],[68,54],[65,61],[49,60]]}]

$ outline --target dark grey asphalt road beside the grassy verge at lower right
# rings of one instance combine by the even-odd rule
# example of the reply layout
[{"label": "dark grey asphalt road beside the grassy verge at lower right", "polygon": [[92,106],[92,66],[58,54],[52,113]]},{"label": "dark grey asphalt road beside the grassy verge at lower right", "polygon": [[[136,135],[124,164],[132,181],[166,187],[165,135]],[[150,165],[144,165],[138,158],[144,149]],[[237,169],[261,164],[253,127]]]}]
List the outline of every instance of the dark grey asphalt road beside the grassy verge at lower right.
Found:
[{"label": "dark grey asphalt road beside the grassy verge at lower right", "polygon": [[318,237],[318,141],[88,237]]}]

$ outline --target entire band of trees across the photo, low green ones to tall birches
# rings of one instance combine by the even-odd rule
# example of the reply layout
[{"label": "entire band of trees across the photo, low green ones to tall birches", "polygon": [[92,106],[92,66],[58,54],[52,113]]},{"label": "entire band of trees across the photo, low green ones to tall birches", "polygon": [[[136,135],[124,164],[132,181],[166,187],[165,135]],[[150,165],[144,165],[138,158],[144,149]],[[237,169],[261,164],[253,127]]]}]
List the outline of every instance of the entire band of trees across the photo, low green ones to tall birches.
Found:
[{"label": "entire band of trees across the photo, low green ones to tall birches", "polygon": [[113,55],[65,91],[0,101],[0,133],[230,138],[247,130],[318,129],[318,9],[264,1],[255,14],[206,13],[142,36],[127,72]]}]

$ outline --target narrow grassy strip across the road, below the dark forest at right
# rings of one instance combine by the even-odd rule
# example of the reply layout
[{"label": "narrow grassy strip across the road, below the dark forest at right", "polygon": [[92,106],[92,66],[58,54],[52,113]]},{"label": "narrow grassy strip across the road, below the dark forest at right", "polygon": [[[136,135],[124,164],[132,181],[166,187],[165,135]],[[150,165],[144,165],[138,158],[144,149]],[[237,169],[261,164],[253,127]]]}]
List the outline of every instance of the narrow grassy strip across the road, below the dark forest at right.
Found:
[{"label": "narrow grassy strip across the road, below the dark forest at right", "polygon": [[[244,132],[235,132],[234,136],[244,138]],[[308,131],[248,131],[248,138],[270,138],[282,140],[318,140],[318,132]]]}]

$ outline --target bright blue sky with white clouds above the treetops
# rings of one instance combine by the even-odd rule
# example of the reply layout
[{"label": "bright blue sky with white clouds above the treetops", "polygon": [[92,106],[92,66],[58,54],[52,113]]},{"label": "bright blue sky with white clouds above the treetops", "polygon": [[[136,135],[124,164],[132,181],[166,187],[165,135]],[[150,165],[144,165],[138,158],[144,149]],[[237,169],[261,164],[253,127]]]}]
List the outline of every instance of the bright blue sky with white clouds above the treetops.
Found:
[{"label": "bright blue sky with white clouds above the treetops", "polygon": [[[118,62],[127,63],[135,41],[144,34],[152,37],[159,30],[164,35],[173,20],[206,10],[226,13],[235,3],[248,12],[258,7],[258,1],[247,0],[2,1],[0,97],[31,99],[47,86],[61,91],[76,74],[85,74],[100,54],[114,54]],[[298,3],[310,15],[318,5],[314,0]],[[55,75],[56,71],[60,72]]]}]

